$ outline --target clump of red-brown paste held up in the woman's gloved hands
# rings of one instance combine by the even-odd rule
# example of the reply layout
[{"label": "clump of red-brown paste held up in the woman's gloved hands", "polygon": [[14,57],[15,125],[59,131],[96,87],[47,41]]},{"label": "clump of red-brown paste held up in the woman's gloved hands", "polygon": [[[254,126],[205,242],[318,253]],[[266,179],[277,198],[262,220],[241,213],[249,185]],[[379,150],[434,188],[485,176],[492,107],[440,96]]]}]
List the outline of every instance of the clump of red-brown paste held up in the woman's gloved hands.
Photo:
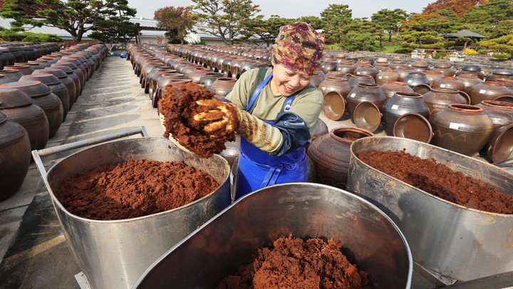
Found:
[{"label": "clump of red-brown paste held up in the woman's gloved hands", "polygon": [[[227,134],[224,130],[214,133],[203,131],[205,125],[217,120],[198,122],[193,119],[199,112],[216,110],[215,106],[196,104],[196,100],[212,99],[214,93],[196,83],[180,84],[180,88],[166,85],[165,89],[159,103],[159,113],[164,115],[165,119],[164,137],[172,135],[190,152],[204,158],[212,157],[212,154],[219,154],[226,149],[224,142],[235,141],[234,132]],[[223,103],[222,100],[213,99],[217,103]]]}]

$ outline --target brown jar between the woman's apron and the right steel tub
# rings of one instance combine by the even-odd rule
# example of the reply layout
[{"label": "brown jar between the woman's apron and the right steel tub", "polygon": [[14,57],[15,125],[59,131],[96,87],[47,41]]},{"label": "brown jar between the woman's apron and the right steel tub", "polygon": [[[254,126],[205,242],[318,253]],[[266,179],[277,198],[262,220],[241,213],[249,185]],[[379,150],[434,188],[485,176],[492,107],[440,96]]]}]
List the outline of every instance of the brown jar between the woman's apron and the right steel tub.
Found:
[{"label": "brown jar between the woman's apron and the right steel tub", "polygon": [[316,182],[346,189],[351,144],[373,133],[355,127],[338,127],[314,140],[306,152],[314,162]]}]

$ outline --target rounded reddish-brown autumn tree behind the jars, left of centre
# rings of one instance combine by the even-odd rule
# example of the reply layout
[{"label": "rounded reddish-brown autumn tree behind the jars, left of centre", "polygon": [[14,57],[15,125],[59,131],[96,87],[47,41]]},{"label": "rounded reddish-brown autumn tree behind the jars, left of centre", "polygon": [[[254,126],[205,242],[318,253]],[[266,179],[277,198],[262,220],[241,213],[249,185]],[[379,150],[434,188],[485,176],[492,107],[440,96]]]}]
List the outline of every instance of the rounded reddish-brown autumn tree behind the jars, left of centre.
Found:
[{"label": "rounded reddish-brown autumn tree behind the jars, left of centre", "polygon": [[190,16],[189,11],[182,6],[176,8],[167,6],[157,9],[153,19],[158,21],[158,28],[167,31],[165,36],[169,43],[183,44],[185,37],[192,31],[192,26],[196,23],[195,18]]}]

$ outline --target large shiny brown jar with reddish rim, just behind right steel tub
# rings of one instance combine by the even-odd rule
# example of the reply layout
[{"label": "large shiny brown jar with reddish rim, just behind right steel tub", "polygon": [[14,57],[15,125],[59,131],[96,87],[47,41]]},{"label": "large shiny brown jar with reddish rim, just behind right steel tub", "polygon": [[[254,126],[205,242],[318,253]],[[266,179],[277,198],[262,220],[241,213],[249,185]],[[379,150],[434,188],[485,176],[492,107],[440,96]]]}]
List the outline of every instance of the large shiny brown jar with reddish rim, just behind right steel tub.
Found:
[{"label": "large shiny brown jar with reddish rim, just behind right steel tub", "polygon": [[494,132],[492,120],[474,105],[449,105],[433,115],[431,125],[436,146],[467,156],[475,156]]}]

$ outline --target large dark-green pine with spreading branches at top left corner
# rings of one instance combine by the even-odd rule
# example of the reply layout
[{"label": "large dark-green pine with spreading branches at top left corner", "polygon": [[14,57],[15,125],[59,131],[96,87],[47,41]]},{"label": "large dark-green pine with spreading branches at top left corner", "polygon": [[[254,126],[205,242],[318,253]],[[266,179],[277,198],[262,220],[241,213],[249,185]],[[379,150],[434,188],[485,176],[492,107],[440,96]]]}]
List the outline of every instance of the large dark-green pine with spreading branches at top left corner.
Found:
[{"label": "large dark-green pine with spreading branches at top left corner", "polygon": [[[98,28],[98,21],[117,16],[119,11],[125,16],[135,16],[137,12],[128,7],[128,0],[5,0],[0,16],[14,19],[11,26],[18,28],[25,24],[61,28],[79,42],[83,33]],[[121,21],[128,20],[125,16]]]}]

